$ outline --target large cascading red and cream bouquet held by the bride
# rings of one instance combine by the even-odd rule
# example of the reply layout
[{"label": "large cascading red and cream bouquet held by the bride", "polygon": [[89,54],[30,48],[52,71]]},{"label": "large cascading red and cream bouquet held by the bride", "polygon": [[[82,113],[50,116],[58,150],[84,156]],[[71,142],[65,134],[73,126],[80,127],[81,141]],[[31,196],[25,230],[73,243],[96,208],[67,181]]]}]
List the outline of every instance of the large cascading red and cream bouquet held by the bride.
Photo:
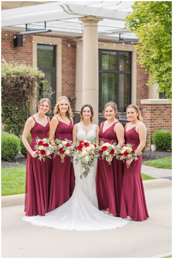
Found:
[{"label": "large cascading red and cream bouquet held by the bride", "polygon": [[97,163],[98,146],[93,140],[78,140],[74,146],[74,150],[77,155],[75,159],[76,164],[80,160],[82,168],[84,168],[84,172],[80,175],[80,178],[82,179],[82,175],[86,178],[90,168]]}]

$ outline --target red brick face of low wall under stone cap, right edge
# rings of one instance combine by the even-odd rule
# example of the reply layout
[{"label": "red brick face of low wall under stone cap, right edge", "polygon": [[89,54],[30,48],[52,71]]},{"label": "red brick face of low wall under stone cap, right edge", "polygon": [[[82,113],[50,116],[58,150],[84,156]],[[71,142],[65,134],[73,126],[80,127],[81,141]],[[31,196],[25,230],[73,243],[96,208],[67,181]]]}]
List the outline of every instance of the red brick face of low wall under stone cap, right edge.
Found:
[{"label": "red brick face of low wall under stone cap, right edge", "polygon": [[171,104],[143,104],[143,119],[146,128],[150,131],[148,149],[153,144],[152,136],[156,130],[172,131]]}]

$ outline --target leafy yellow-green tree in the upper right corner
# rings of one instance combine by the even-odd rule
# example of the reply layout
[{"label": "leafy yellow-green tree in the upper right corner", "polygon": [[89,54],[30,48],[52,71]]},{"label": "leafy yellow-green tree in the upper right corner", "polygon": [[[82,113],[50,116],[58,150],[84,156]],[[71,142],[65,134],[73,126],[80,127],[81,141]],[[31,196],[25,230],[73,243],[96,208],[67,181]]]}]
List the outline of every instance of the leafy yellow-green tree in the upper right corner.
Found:
[{"label": "leafy yellow-green tree in the upper right corner", "polygon": [[147,85],[157,83],[158,92],[171,93],[171,1],[136,1],[126,26],[137,35],[138,63],[150,71]]}]

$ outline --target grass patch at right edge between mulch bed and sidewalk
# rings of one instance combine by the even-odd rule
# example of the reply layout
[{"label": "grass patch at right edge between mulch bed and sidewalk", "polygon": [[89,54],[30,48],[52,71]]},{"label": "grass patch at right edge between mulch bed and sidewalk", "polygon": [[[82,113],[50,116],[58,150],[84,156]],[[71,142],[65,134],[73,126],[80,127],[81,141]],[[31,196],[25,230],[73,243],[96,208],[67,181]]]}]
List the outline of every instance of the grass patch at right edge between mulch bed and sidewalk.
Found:
[{"label": "grass patch at right edge between mulch bed and sidewalk", "polygon": [[172,169],[172,157],[164,157],[160,159],[155,159],[155,160],[148,160],[143,162],[145,166],[152,166],[152,167],[157,167],[157,168],[164,168],[164,169]]}]

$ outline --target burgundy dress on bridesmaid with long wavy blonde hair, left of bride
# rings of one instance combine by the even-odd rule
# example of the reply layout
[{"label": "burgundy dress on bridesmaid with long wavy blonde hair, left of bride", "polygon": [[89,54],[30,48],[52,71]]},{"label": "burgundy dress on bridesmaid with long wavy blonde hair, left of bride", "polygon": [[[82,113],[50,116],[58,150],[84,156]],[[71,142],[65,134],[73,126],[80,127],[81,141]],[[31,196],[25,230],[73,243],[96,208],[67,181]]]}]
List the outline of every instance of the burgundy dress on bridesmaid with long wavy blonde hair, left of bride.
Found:
[{"label": "burgundy dress on bridesmaid with long wavy blonde hair, left of bride", "polygon": [[[55,131],[55,138],[61,140],[72,140],[72,131],[72,121],[67,125],[59,120]],[[64,163],[61,163],[61,157],[59,155],[55,158],[52,156],[52,178],[48,212],[67,202],[67,200],[72,196],[74,186],[75,176],[70,156],[64,157]]]}]

